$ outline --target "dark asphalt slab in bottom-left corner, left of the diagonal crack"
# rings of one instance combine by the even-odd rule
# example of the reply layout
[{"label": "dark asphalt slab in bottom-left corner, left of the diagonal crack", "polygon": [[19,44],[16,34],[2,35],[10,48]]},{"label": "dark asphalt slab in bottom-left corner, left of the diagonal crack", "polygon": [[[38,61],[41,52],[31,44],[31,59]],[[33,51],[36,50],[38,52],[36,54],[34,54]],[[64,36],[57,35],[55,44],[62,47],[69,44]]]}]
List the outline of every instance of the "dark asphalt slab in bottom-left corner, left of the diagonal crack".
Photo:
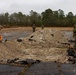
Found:
[{"label": "dark asphalt slab in bottom-left corner, left of the diagonal crack", "polygon": [[0,65],[0,75],[17,75],[23,67]]}]

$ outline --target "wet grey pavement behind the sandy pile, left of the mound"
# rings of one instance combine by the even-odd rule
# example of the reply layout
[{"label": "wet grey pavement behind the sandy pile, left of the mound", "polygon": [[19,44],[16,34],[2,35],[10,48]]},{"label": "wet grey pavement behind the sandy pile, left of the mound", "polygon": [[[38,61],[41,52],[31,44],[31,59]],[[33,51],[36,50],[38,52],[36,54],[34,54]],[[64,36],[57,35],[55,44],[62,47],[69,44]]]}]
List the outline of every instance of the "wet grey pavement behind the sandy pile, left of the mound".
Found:
[{"label": "wet grey pavement behind the sandy pile, left of the mound", "polygon": [[32,32],[30,32],[30,31],[24,31],[24,32],[15,32],[15,31],[13,31],[13,32],[9,32],[9,33],[4,32],[2,34],[2,36],[3,36],[3,41],[5,39],[14,40],[14,39],[17,39],[17,38],[25,38],[26,36],[28,36],[31,33]]}]

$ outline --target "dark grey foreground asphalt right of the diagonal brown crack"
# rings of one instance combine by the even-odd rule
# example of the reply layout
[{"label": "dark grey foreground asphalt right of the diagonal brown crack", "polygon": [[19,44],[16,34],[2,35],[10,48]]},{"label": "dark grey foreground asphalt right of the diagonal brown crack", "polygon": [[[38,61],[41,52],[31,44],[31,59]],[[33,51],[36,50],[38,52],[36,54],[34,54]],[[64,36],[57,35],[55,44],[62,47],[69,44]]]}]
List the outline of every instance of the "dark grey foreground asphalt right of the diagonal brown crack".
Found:
[{"label": "dark grey foreground asphalt right of the diagonal brown crack", "polygon": [[76,75],[76,65],[43,62],[30,67],[25,75]]}]

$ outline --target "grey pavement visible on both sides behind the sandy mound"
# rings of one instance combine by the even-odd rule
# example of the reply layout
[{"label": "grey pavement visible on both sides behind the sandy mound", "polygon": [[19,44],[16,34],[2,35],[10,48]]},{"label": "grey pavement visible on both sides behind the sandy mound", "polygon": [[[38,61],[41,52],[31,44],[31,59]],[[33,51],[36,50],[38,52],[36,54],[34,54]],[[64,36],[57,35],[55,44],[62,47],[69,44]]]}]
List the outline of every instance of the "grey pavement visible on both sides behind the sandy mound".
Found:
[{"label": "grey pavement visible on both sides behind the sandy mound", "polygon": [[[67,36],[70,40],[74,39],[72,31],[63,31],[63,32],[65,33],[65,36]],[[12,39],[17,39],[17,38],[25,38],[26,36],[28,36],[31,33],[32,33],[31,31],[24,31],[24,32],[12,31],[9,33],[4,32],[2,34],[2,36],[3,36],[3,40],[5,40],[5,39],[12,40]]]}]

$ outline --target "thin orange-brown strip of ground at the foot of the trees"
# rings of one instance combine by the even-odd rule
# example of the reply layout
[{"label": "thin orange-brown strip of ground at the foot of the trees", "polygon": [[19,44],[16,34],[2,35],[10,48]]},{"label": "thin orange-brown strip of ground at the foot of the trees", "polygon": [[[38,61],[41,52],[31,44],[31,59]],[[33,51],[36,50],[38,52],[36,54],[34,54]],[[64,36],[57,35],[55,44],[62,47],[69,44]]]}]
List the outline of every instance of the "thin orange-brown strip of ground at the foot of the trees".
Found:
[{"label": "thin orange-brown strip of ground at the foot of the trees", "polygon": [[[45,27],[49,29],[55,29],[55,30],[73,30],[72,27]],[[41,29],[41,27],[37,27],[36,30]],[[1,32],[11,32],[11,31],[32,31],[31,27],[16,27],[16,28],[3,28]]]}]

